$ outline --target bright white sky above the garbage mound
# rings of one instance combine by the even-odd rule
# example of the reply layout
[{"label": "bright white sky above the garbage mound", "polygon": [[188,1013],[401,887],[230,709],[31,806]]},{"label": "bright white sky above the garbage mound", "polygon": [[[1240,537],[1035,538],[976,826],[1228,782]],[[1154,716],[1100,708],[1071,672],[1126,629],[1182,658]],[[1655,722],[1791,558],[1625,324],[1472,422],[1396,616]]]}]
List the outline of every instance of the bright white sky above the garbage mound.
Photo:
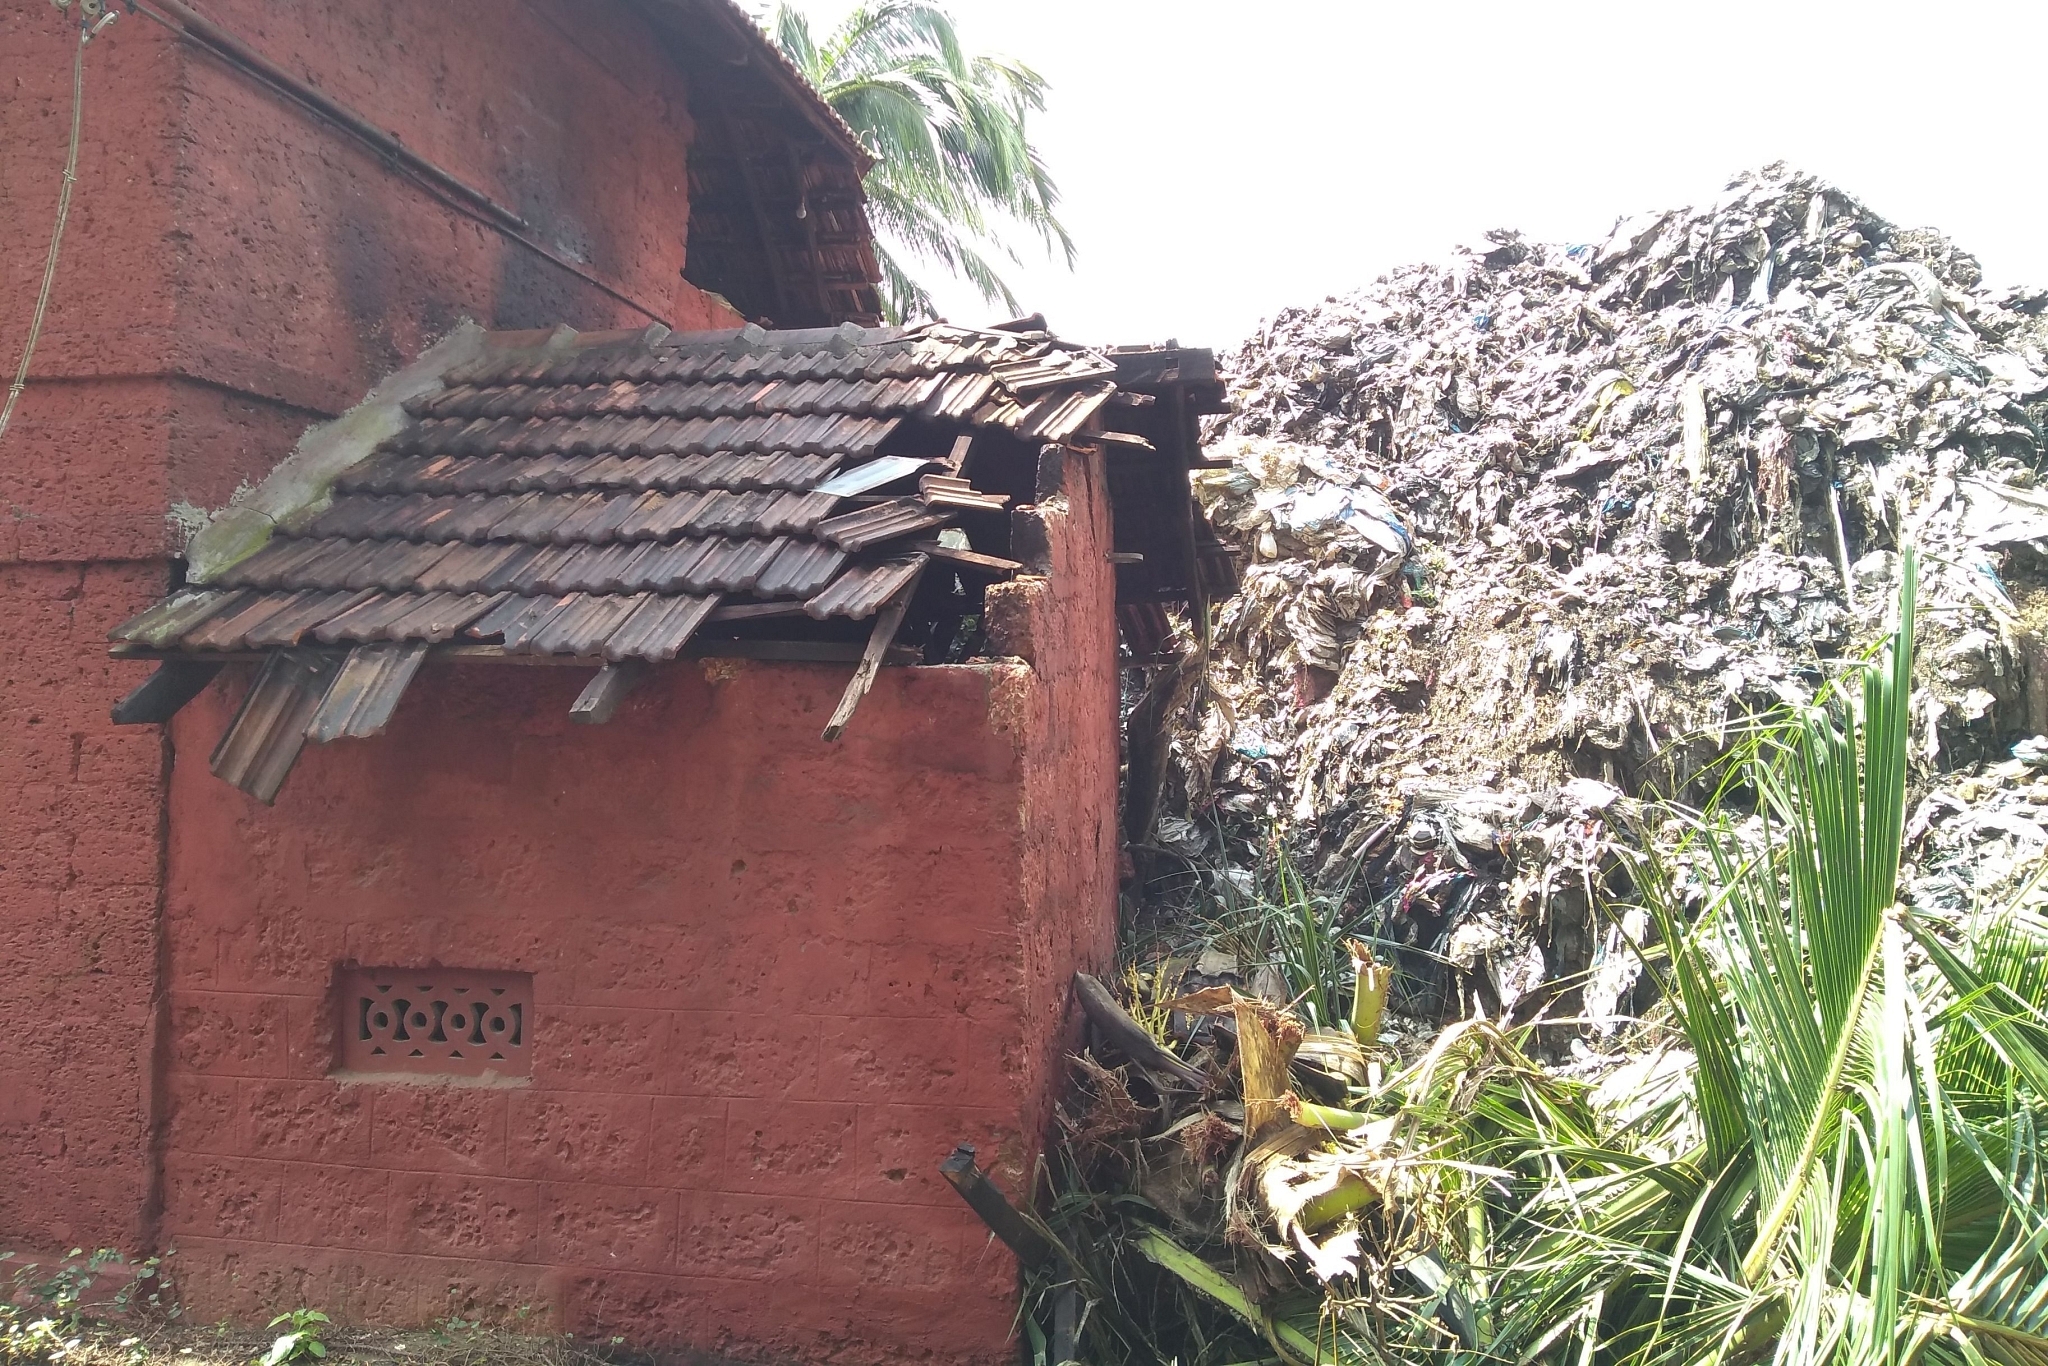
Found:
[{"label": "bright white sky above the garbage mound", "polygon": [[[801,0],[813,23],[848,0]],[[1980,0],[950,0],[1038,68],[1090,342],[1231,346],[1487,227],[1604,238],[1788,160],[2048,285],[2048,6]],[[958,322],[991,313],[948,293]]]}]

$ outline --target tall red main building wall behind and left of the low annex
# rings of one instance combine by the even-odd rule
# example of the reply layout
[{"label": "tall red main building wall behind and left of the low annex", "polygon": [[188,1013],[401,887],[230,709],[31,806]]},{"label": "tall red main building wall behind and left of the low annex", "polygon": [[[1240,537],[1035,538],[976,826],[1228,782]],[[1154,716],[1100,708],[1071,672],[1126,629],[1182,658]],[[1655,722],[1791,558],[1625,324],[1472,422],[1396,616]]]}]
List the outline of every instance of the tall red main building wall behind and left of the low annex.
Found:
[{"label": "tall red main building wall behind and left of the low annex", "polygon": [[[686,90],[616,4],[203,0],[678,328]],[[74,31],[0,6],[0,360],[57,201]],[[0,1243],[156,1239],[152,1059],[166,741],[106,709],[104,631],[162,594],[166,512],[223,504],[461,315],[643,322],[449,211],[164,29],[86,49],[80,182],[35,375],[0,440]],[[201,756],[203,758],[203,756]]]}]

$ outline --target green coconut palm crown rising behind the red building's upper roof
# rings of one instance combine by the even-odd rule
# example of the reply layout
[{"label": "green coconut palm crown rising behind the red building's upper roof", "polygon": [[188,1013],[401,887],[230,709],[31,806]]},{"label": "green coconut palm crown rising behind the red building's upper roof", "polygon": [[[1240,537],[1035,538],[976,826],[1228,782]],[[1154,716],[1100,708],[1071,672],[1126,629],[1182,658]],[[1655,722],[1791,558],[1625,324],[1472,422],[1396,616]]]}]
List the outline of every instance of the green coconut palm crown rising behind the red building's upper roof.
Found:
[{"label": "green coconut palm crown rising behind the red building's upper roof", "polygon": [[997,238],[1038,236],[1073,264],[1073,240],[1053,213],[1059,190],[1026,121],[1044,109],[1044,78],[1008,57],[969,57],[952,18],[924,0],[872,0],[825,37],[780,4],[776,43],[874,154],[868,217],[891,244],[877,248],[883,307],[893,322],[934,313],[907,258],[965,276],[989,303],[1022,311],[989,262],[1018,260]]}]

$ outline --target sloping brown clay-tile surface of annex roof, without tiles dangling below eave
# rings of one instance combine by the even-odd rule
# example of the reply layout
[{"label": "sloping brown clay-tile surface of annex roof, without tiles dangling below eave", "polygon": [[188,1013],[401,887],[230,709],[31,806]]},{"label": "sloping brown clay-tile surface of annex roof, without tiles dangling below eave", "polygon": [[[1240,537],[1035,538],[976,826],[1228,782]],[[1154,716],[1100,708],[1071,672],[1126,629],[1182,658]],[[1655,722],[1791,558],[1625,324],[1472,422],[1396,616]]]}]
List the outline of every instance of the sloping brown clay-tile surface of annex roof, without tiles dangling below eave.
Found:
[{"label": "sloping brown clay-tile surface of annex roof, without tiles dangling below eave", "polygon": [[653,661],[719,616],[866,618],[918,580],[920,541],[1004,506],[958,477],[958,436],[1057,442],[1112,375],[1042,332],[948,326],[485,350],[332,502],[113,639]]}]

